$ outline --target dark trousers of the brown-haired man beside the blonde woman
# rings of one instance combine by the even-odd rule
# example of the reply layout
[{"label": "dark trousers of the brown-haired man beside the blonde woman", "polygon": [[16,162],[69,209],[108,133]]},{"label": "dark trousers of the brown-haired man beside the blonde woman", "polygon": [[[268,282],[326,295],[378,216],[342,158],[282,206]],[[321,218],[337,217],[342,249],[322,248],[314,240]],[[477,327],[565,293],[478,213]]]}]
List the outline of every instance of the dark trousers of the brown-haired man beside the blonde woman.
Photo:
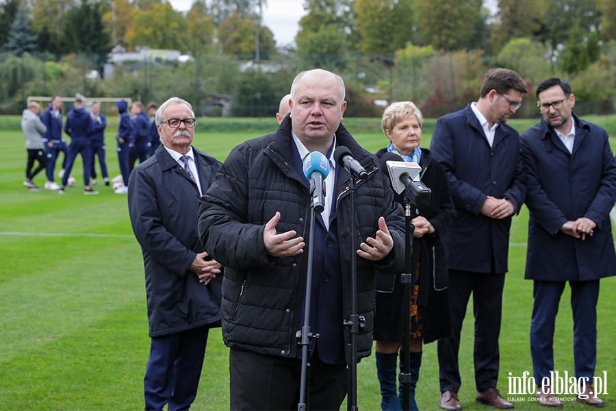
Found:
[{"label": "dark trousers of the brown-haired man beside the blonde woman", "polygon": [[478,391],[496,388],[498,382],[498,336],[502,312],[504,274],[472,273],[449,270],[449,301],[454,330],[452,338],[439,340],[439,377],[441,393],[458,392],[462,384],[458,364],[460,334],[470,295],[475,317],[475,384]]}]

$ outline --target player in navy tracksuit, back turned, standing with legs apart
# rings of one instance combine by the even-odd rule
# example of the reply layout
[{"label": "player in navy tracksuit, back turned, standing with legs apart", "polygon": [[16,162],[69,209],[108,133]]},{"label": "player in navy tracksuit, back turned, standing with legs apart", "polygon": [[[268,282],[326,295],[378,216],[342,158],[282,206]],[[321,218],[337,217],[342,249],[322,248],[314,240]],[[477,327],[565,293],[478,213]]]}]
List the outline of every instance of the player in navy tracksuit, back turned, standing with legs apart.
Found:
[{"label": "player in navy tracksuit, back turned, standing with legs apart", "polygon": [[64,187],[68,184],[70,170],[73,169],[77,153],[81,153],[81,159],[84,162],[84,194],[99,194],[99,192],[90,188],[92,151],[88,136],[92,134],[92,120],[90,119],[90,114],[84,110],[84,101],[79,98],[75,99],[73,107],[73,110],[66,114],[66,123],[64,124],[64,132],[70,136],[70,145],[68,146],[68,164],[66,164],[66,169],[62,176],[62,186],[58,192],[64,192]]}]

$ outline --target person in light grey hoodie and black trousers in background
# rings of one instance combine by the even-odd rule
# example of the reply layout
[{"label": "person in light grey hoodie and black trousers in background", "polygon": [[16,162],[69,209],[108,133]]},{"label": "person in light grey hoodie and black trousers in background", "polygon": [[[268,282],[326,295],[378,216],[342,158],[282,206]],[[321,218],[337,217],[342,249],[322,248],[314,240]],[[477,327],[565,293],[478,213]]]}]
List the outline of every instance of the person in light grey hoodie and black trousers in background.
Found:
[{"label": "person in light grey hoodie and black trousers in background", "polygon": [[[47,127],[38,118],[39,112],[40,105],[36,101],[32,101],[21,114],[21,130],[28,151],[26,179],[23,185],[29,188],[29,191],[40,191],[40,187],[34,184],[32,179],[47,166],[47,155],[45,155],[45,146],[42,140],[42,135],[47,132]],[[38,161],[38,167],[32,171],[35,160]]]}]

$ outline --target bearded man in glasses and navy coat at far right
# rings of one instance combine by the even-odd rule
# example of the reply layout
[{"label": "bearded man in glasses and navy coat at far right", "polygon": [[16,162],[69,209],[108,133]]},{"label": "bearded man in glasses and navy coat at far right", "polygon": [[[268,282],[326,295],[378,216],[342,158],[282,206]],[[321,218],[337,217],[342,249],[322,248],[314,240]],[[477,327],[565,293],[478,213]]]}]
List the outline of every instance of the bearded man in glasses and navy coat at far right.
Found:
[{"label": "bearded man in glasses and navy coat at far right", "polygon": [[[572,112],[576,98],[565,80],[551,78],[537,87],[543,118],[522,134],[526,166],[528,251],[526,279],[535,303],[530,320],[530,353],[538,402],[562,407],[554,395],[554,323],[569,282],[574,318],[575,377],[578,401],[604,406],[595,394],[597,301],[601,278],[616,274],[609,212],[616,201],[616,162],[602,127]],[[549,384],[545,384],[545,382]]]}]

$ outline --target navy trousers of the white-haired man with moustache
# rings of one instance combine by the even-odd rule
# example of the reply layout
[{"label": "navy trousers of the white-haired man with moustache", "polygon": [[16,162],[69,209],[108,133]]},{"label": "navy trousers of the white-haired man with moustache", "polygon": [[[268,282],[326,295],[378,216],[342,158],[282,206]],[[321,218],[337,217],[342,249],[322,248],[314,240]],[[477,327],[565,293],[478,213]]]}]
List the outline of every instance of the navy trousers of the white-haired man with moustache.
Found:
[{"label": "navy trousers of the white-haired man with moustache", "polygon": [[208,327],[151,339],[143,379],[145,409],[188,410],[196,397],[205,358]]}]

